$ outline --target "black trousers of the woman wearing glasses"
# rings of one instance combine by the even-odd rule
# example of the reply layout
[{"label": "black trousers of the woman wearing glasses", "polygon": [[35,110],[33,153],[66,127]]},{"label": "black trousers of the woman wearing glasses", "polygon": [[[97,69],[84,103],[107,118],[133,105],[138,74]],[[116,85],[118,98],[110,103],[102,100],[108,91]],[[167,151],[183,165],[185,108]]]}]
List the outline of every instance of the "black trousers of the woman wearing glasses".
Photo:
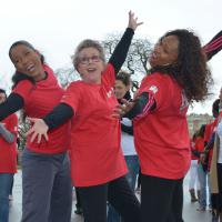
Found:
[{"label": "black trousers of the woman wearing glasses", "polygon": [[85,222],[107,222],[107,201],[124,222],[140,222],[140,203],[127,179],[121,176],[101,185],[78,188]]}]

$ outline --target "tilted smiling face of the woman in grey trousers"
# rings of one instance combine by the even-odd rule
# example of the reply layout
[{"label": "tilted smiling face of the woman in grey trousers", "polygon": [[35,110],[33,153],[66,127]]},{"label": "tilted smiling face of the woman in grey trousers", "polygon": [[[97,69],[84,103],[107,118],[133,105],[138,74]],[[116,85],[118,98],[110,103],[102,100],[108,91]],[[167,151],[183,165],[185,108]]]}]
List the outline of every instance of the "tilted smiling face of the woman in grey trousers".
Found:
[{"label": "tilted smiling face of the woman in grey trousers", "polygon": [[41,56],[24,44],[17,44],[10,50],[10,58],[18,72],[39,81],[44,78]]}]

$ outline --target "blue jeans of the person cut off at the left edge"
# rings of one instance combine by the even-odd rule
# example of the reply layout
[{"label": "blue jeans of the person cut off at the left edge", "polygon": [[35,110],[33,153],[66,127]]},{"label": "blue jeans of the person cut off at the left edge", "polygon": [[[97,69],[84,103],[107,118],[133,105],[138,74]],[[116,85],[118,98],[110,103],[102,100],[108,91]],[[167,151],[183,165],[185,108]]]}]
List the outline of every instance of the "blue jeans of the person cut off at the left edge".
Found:
[{"label": "blue jeans of the person cut off at the left edge", "polygon": [[13,173],[0,173],[0,221],[9,221],[9,193]]}]

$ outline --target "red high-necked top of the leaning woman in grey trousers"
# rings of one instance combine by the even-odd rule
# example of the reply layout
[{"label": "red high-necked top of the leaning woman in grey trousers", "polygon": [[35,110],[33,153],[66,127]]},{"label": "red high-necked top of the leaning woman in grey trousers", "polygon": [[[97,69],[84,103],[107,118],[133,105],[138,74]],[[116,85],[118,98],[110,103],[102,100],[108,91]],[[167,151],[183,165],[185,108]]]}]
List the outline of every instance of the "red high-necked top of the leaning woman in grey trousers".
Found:
[{"label": "red high-necked top of the leaning woman in grey trousers", "polygon": [[[14,88],[13,93],[19,94],[24,100],[23,110],[27,117],[43,118],[56,105],[59,104],[64,91],[58,84],[58,81],[50,69],[47,69],[48,77],[44,80],[31,83],[29,80],[23,80]],[[67,151],[69,145],[70,122],[63,123],[60,127],[50,130],[49,140],[37,140],[30,142],[31,135],[27,138],[27,148],[38,153],[61,153]]]}]

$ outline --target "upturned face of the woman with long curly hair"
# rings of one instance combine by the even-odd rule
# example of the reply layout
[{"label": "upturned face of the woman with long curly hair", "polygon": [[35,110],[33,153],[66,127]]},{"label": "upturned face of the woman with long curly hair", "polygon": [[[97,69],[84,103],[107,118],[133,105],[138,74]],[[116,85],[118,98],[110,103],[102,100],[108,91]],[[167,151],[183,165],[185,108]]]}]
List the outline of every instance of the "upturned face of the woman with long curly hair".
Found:
[{"label": "upturned face of the woman with long curly hair", "polygon": [[164,37],[160,42],[154,47],[154,50],[150,58],[150,65],[169,65],[176,63],[179,54],[179,39],[176,36]]}]

